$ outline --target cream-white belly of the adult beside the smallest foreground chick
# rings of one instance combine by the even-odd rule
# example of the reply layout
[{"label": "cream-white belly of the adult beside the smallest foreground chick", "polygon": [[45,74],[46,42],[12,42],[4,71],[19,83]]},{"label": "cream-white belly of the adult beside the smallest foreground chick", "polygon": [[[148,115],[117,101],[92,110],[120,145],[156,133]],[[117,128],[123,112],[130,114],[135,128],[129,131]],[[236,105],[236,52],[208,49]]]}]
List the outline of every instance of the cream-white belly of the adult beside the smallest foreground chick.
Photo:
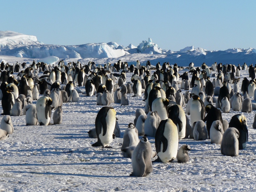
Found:
[{"label": "cream-white belly of the adult beside the smallest foreground chick", "polygon": [[171,159],[175,159],[178,152],[178,131],[172,129],[172,127],[166,127],[164,129],[164,137],[168,140],[168,146],[165,152],[163,152],[164,145],[161,143],[161,150],[157,153],[163,163],[169,162]]}]

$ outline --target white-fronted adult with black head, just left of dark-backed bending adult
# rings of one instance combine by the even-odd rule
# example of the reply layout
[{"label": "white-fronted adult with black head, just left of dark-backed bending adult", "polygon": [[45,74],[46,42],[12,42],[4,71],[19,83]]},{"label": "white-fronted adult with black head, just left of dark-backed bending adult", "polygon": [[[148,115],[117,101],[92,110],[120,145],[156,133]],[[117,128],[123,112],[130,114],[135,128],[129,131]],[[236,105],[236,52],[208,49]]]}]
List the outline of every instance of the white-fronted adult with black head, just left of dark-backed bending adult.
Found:
[{"label": "white-fronted adult with black head, just left of dark-backed bending adult", "polygon": [[196,121],[203,120],[205,116],[204,102],[200,97],[198,97],[198,95],[193,95],[192,98],[193,100],[190,106],[190,111],[193,112],[190,113],[191,125]]}]

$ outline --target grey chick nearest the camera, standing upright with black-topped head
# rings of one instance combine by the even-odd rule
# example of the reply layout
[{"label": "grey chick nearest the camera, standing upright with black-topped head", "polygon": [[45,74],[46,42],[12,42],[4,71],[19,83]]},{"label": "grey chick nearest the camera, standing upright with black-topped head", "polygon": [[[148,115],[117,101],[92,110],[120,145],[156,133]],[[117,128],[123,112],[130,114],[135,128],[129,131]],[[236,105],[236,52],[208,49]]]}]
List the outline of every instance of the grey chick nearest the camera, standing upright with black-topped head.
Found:
[{"label": "grey chick nearest the camera, standing upright with black-topped head", "polygon": [[132,153],[132,173],[130,176],[146,177],[153,171],[151,143],[147,137],[142,137]]}]

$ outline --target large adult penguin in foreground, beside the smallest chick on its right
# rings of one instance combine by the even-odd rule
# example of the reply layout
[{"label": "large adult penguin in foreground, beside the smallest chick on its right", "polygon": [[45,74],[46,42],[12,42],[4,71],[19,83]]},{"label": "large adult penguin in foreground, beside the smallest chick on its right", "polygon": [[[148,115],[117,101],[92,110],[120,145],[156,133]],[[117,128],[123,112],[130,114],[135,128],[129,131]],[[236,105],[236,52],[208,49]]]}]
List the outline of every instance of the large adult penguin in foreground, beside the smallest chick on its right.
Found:
[{"label": "large adult penguin in foreground, beside the smallest chick on its right", "polygon": [[178,151],[177,126],[171,119],[162,120],[156,130],[155,145],[157,159],[154,162],[172,162]]}]

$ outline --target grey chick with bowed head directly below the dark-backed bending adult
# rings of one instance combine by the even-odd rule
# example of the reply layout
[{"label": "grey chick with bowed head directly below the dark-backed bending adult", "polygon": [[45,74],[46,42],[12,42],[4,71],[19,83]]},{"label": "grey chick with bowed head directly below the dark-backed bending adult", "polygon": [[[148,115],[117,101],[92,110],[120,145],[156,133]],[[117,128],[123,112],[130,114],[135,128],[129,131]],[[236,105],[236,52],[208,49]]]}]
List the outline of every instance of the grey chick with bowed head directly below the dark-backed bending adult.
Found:
[{"label": "grey chick with bowed head directly below the dark-backed bending adult", "polygon": [[220,120],[213,121],[210,129],[211,143],[216,143],[217,145],[220,145],[223,134],[224,134],[224,130]]}]

